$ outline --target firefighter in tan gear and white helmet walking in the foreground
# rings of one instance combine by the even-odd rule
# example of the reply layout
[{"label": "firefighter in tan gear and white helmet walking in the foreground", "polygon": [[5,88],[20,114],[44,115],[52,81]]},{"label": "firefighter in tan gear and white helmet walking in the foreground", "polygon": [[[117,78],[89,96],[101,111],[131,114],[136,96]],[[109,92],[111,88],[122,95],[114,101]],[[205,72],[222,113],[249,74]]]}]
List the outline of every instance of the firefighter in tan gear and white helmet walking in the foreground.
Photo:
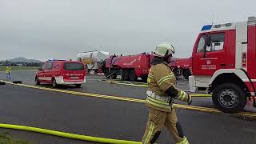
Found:
[{"label": "firefighter in tan gear and white helmet walking in the foreground", "polygon": [[190,105],[192,99],[189,94],[176,88],[176,78],[168,66],[172,54],[174,47],[170,43],[161,43],[154,51],[146,91],[146,106],[150,112],[142,144],[154,143],[164,126],[177,144],[189,144],[178,122],[173,103],[174,99],[178,99]]}]

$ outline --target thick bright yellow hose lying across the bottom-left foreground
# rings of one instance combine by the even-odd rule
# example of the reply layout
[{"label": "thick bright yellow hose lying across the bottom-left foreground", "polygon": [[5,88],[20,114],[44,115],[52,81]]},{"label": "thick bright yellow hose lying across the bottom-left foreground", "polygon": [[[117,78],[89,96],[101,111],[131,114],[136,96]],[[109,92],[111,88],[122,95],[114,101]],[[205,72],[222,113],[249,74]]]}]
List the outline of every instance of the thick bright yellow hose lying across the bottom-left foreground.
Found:
[{"label": "thick bright yellow hose lying across the bottom-left foreground", "polygon": [[87,142],[100,142],[100,143],[113,143],[113,144],[141,144],[141,142],[110,139],[110,138],[97,138],[97,137],[91,137],[91,136],[80,135],[80,134],[70,134],[70,133],[65,133],[65,132],[60,132],[55,130],[46,130],[46,129],[41,129],[37,127],[18,126],[18,125],[4,124],[4,123],[0,123],[0,128],[26,130],[26,131],[32,131],[32,132],[41,133],[41,134],[49,134],[49,135],[54,135],[54,136],[59,136],[64,138],[78,139],[78,140],[83,140]]}]

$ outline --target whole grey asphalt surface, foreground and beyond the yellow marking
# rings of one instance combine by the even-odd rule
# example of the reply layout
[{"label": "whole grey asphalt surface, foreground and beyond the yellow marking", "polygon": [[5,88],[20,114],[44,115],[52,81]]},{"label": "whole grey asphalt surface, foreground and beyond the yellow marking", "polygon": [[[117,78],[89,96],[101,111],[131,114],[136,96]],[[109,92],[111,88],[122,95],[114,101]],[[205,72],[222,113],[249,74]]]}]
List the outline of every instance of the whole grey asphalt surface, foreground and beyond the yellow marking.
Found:
[{"label": "whole grey asphalt surface, foreground and beyond the yellow marking", "polygon": [[[32,74],[32,75],[31,75]],[[13,78],[23,83],[34,83],[34,71],[15,71]],[[5,74],[0,72],[0,79]],[[142,87],[119,86],[98,81],[88,76],[81,89],[71,86],[67,90],[86,91],[94,94],[110,94],[131,98],[142,98],[146,90]],[[196,103],[212,106],[210,98],[196,98]],[[192,110],[178,110],[190,143],[195,144],[253,144],[256,142],[256,122],[232,117],[228,114],[209,114]],[[145,104],[121,102],[110,99],[90,98],[74,94],[63,94],[6,84],[0,86],[0,123],[35,126],[74,134],[102,138],[117,138],[140,141],[146,128],[148,110]],[[19,130],[5,130],[17,138],[34,143],[92,143],[35,134]],[[174,143],[167,130],[163,130],[158,143]]]}]

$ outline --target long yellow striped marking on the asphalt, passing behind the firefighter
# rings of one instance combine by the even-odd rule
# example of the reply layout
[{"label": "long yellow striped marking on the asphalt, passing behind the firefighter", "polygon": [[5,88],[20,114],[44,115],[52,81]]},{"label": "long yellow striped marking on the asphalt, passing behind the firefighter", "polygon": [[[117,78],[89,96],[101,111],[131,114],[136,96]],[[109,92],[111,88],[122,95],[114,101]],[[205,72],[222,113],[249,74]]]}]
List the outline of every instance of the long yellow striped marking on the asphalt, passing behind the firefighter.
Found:
[{"label": "long yellow striped marking on the asphalt, passing behind the firefighter", "polygon": [[[118,96],[111,96],[111,95],[104,95],[104,94],[90,94],[90,93],[85,93],[85,92],[59,90],[59,89],[46,88],[46,87],[41,87],[41,86],[31,86],[31,85],[26,85],[26,84],[14,84],[12,82],[7,82],[7,81],[2,81],[2,82],[6,82],[6,83],[14,85],[14,86],[23,86],[23,87],[29,87],[29,88],[38,89],[38,90],[49,90],[49,91],[61,92],[61,93],[65,93],[65,94],[75,94],[78,96],[114,99],[114,100],[126,101],[126,102],[139,102],[139,103],[146,102],[146,100],[138,99],[138,98],[125,98],[125,97],[118,97]],[[186,105],[181,105],[181,104],[174,104],[174,107],[177,107],[178,109],[184,109],[184,110],[196,110],[196,111],[202,111],[202,112],[222,114],[222,111],[215,109],[215,108],[208,108],[208,107],[201,107],[201,106],[186,106]],[[251,113],[251,112],[239,112],[239,113],[236,113],[235,115],[256,118],[256,113]]]}]

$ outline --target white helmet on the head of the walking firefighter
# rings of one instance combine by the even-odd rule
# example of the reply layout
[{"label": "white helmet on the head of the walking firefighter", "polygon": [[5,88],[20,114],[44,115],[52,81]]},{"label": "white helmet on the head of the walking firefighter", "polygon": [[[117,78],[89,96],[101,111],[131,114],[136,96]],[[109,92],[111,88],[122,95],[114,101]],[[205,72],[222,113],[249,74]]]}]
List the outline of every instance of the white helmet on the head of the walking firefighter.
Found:
[{"label": "white helmet on the head of the walking firefighter", "polygon": [[154,50],[154,56],[164,58],[175,53],[174,46],[170,43],[162,42]]}]

